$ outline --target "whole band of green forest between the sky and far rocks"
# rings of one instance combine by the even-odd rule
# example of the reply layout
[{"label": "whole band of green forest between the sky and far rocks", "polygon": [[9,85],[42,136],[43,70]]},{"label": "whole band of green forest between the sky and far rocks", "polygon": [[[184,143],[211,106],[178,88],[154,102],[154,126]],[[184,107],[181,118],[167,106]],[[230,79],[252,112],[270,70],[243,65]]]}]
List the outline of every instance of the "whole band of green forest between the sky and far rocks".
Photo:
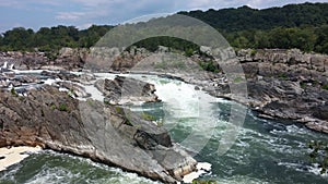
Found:
[{"label": "whole band of green forest between the sky and far rocks", "polygon": [[[241,7],[208,11],[178,12],[199,19],[218,29],[235,49],[298,48],[305,52],[328,53],[328,3],[289,4],[263,10]],[[90,48],[114,26],[92,25],[42,27],[37,32],[16,27],[0,35],[0,50],[56,51],[62,47]],[[180,39],[159,37],[136,46],[156,50],[159,45],[185,51],[198,47]]]}]

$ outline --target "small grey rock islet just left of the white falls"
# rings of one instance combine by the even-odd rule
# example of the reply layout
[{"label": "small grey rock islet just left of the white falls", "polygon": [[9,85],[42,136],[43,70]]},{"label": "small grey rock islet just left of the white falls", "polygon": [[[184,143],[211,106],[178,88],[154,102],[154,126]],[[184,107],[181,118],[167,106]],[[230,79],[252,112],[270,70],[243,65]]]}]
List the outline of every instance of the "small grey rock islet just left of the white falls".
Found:
[{"label": "small grey rock islet just left of the white falls", "polygon": [[95,86],[110,105],[160,101],[153,84],[134,78],[116,76],[113,81],[99,79]]}]

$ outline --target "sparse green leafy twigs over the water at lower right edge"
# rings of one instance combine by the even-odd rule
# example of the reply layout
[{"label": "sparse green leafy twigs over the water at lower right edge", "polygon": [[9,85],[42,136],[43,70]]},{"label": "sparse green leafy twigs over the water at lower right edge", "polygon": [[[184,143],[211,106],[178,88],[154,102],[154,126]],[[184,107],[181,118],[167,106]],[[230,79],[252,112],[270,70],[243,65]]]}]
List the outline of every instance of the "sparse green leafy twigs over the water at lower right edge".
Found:
[{"label": "sparse green leafy twigs over the water at lower right edge", "polygon": [[319,164],[321,174],[326,173],[328,169],[328,143],[311,142],[308,148],[312,150],[309,154],[312,161]]}]

